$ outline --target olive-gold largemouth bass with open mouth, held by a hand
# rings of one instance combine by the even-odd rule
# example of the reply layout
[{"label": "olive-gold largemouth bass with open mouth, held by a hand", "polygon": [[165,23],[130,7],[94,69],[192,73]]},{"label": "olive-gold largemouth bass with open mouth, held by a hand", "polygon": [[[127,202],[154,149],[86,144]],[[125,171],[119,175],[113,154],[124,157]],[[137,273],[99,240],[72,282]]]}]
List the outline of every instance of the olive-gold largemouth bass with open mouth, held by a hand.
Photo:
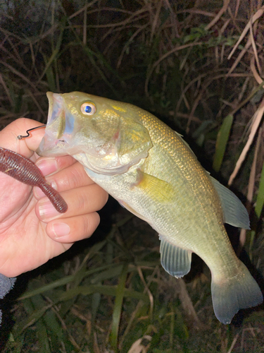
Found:
[{"label": "olive-gold largemouth bass with open mouth, held by a hand", "polygon": [[153,114],[84,92],[47,92],[37,154],[72,155],[89,177],[146,221],[161,240],[161,265],[183,277],[191,253],[208,265],[215,316],[227,324],[263,295],[237,258],[224,223],[250,229],[239,198],[210,177],[179,133]]}]

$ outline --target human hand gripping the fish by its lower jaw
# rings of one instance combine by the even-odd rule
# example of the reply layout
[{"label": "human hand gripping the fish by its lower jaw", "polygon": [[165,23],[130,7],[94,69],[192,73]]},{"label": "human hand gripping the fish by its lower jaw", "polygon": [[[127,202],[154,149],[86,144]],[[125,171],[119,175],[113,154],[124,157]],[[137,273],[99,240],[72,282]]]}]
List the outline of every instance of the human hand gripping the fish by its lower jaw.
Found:
[{"label": "human hand gripping the fish by its lower jaw", "polygon": [[37,268],[68,250],[75,241],[90,237],[99,225],[100,210],[108,194],[94,184],[73,157],[42,157],[37,149],[44,128],[18,140],[38,121],[17,119],[0,131],[0,145],[33,162],[68,203],[58,213],[44,193],[0,172],[0,273],[15,277]]}]

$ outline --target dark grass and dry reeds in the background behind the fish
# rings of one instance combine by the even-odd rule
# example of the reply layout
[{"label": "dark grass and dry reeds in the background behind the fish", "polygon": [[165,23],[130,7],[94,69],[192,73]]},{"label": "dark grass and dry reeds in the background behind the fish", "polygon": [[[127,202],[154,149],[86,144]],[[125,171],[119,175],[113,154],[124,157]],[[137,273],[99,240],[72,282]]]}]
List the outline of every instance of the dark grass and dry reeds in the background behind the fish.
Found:
[{"label": "dark grass and dry reeds in the background behind the fish", "polygon": [[[6,1],[0,126],[19,116],[45,122],[47,90],[153,112],[250,201],[245,248],[263,276],[264,23],[260,2],[246,5]],[[198,258],[175,280],[161,268],[148,225],[113,201],[101,218],[92,239],[18,278],[5,299],[12,319],[1,332],[3,352],[264,352],[263,309],[220,324]]]}]

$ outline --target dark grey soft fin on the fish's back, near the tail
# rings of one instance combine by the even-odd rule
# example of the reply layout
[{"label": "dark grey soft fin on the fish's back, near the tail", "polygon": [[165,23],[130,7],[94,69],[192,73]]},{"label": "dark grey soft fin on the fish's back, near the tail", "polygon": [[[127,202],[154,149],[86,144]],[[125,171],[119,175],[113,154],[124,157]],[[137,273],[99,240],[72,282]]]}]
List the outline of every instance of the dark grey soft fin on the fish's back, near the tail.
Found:
[{"label": "dark grey soft fin on the fish's back, near the tail", "polygon": [[234,227],[250,229],[249,214],[239,198],[213,177],[210,177],[210,180],[213,182],[222,203],[224,222]]}]

